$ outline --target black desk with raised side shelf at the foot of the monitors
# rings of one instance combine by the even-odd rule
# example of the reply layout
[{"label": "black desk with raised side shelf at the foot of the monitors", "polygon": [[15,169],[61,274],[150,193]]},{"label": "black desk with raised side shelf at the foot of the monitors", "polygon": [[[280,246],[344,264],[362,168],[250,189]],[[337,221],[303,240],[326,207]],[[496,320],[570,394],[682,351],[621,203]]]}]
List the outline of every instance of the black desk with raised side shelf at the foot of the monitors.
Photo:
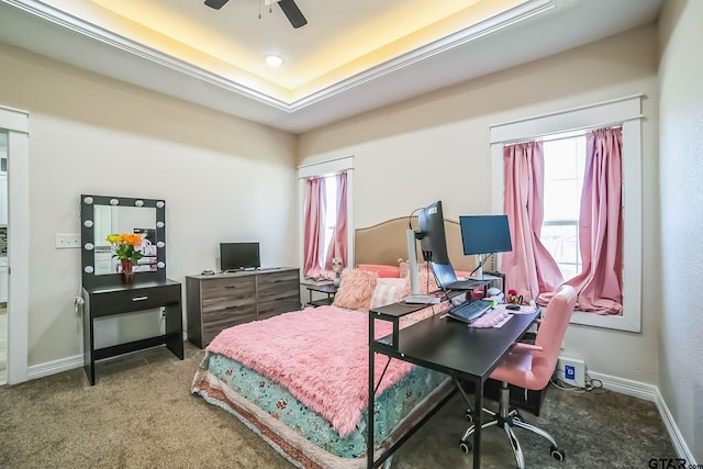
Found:
[{"label": "black desk with raised side shelf at the foot of the monitors", "polygon": [[[367,437],[368,467],[380,466],[404,440],[390,447],[378,460],[373,460],[373,354],[379,353],[421,367],[447,373],[456,380],[471,381],[476,386],[473,468],[481,466],[481,423],[483,406],[483,382],[498,367],[501,358],[527,331],[538,311],[532,314],[514,314],[500,328],[470,328],[466,324],[434,315],[412,326],[399,330],[400,317],[426,305],[391,304],[369,312],[369,425]],[[373,340],[376,320],[393,323],[393,334]],[[444,405],[446,400],[439,403]],[[420,425],[425,422],[423,420]],[[417,427],[411,432],[414,433]]]}]

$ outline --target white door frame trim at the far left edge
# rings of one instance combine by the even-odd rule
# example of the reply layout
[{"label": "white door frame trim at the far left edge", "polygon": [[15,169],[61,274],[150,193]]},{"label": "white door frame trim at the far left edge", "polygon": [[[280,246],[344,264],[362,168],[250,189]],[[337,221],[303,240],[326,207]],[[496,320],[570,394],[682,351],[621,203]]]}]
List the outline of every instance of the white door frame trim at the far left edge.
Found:
[{"label": "white door frame trim at the far left edge", "polygon": [[26,111],[0,107],[8,131],[8,384],[27,380],[30,165]]}]

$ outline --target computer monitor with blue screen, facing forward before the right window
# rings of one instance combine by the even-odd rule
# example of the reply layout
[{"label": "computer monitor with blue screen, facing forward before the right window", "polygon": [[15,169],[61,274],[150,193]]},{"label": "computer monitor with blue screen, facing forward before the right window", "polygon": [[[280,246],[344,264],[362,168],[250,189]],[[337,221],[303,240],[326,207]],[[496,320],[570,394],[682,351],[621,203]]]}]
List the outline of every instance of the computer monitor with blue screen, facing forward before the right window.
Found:
[{"label": "computer monitor with blue screen, facing forward before the right window", "polygon": [[476,255],[476,279],[483,278],[481,255],[513,250],[507,215],[461,215],[459,226],[464,254]]}]

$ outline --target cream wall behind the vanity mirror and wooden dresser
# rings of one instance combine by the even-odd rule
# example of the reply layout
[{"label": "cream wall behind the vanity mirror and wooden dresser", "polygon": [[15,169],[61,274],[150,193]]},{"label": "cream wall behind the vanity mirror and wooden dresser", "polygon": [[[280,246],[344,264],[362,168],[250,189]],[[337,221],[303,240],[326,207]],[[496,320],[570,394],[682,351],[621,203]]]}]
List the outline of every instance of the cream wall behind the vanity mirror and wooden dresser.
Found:
[{"label": "cream wall behind the vanity mirror and wooden dresser", "polygon": [[30,113],[30,366],[81,353],[80,253],[54,248],[80,233],[81,193],[166,200],[177,281],[216,268],[222,241],[297,265],[294,136],[2,44],[0,70],[0,103]]}]

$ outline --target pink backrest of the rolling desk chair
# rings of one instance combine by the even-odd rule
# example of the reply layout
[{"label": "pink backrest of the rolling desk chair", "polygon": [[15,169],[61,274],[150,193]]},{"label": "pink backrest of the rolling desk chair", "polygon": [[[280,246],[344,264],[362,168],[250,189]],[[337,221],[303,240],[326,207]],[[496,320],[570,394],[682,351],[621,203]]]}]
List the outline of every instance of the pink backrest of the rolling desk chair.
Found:
[{"label": "pink backrest of the rolling desk chair", "polygon": [[547,386],[557,367],[563,336],[576,305],[576,297],[573,287],[559,287],[543,315],[535,339],[535,345],[542,347],[542,350],[532,351],[532,373],[539,381],[535,389]]}]

